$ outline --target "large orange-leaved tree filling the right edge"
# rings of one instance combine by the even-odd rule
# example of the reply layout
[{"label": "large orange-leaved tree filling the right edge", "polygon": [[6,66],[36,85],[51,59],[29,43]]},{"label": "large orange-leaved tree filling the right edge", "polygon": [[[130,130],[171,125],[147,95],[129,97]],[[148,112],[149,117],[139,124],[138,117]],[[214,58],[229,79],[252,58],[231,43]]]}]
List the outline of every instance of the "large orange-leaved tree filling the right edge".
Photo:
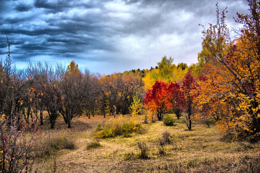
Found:
[{"label": "large orange-leaved tree filling the right edge", "polygon": [[243,24],[239,38],[231,40],[226,9],[217,8],[217,24],[203,31],[210,56],[198,108],[218,116],[223,134],[260,139],[260,3],[248,2],[251,14],[237,14]]}]

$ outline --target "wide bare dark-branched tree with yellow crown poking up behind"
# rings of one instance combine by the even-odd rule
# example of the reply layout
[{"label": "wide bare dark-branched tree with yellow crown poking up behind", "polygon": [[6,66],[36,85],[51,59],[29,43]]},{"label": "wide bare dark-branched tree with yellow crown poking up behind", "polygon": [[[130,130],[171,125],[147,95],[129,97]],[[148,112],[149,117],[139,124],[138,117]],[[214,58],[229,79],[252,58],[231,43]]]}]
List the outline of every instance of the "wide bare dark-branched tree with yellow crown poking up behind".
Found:
[{"label": "wide bare dark-branched tree with yellow crown poking up behind", "polygon": [[[62,71],[64,68],[58,69]],[[61,115],[68,123],[68,128],[71,127],[72,118],[80,114],[83,107],[81,105],[84,103],[85,106],[90,105],[96,100],[95,93],[99,92],[99,87],[93,77],[88,70],[83,74],[74,61],[70,63],[66,72],[62,72],[61,80],[57,83],[61,89],[61,99],[58,104]]]}]

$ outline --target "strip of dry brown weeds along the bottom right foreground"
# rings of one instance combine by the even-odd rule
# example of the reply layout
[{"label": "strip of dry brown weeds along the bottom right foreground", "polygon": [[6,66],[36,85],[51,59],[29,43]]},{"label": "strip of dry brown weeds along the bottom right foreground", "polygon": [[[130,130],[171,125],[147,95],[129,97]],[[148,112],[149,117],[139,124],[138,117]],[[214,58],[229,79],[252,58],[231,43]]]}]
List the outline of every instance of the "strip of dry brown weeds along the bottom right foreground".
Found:
[{"label": "strip of dry brown weeds along the bottom right foreground", "polygon": [[151,172],[259,172],[260,153],[251,155],[240,154],[233,157],[214,157],[203,160],[186,160],[182,162],[168,162],[160,164]]}]

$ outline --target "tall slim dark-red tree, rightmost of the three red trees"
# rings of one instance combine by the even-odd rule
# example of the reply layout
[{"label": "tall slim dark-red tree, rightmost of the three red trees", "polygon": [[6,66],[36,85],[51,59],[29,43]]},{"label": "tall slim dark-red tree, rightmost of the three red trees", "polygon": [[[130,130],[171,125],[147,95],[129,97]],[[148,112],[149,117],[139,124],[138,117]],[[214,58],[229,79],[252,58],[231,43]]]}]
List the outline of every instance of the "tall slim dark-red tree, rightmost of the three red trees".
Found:
[{"label": "tall slim dark-red tree, rightmost of the three red trees", "polygon": [[189,130],[191,130],[192,115],[195,111],[194,98],[197,95],[197,85],[191,71],[184,76],[181,84],[181,92],[183,93],[184,122]]}]

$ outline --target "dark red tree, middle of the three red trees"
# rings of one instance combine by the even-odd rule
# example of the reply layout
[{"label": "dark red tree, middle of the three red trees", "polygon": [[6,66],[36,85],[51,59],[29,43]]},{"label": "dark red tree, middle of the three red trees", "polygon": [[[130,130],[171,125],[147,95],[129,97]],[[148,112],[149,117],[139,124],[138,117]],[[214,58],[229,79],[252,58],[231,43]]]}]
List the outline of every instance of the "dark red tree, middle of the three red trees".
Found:
[{"label": "dark red tree, middle of the three red trees", "polygon": [[168,86],[168,91],[170,94],[169,102],[172,104],[173,113],[179,119],[182,113],[181,105],[184,102],[183,92],[180,90],[180,85],[177,82],[171,82]]}]

